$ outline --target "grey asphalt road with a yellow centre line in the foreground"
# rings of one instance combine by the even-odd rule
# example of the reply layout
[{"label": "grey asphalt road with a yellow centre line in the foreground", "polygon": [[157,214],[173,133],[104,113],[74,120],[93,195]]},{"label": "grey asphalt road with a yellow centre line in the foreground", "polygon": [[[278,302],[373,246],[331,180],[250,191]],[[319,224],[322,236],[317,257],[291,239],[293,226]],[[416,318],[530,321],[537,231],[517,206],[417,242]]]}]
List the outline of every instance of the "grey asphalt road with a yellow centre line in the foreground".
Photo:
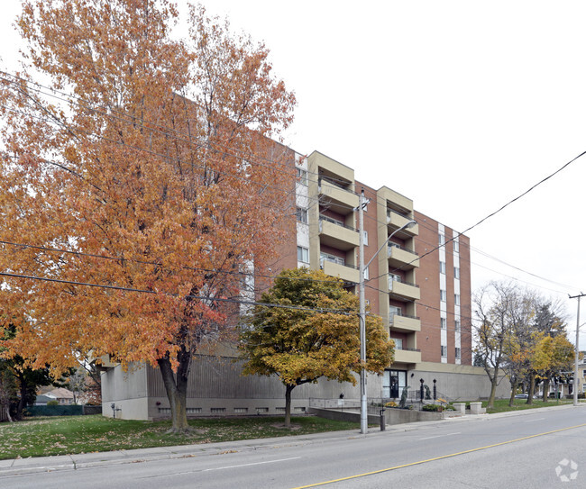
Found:
[{"label": "grey asphalt road with a yellow centre line in the foreground", "polygon": [[[517,414],[517,413],[516,413]],[[316,439],[0,478],[35,488],[586,487],[586,408],[457,418]]]}]

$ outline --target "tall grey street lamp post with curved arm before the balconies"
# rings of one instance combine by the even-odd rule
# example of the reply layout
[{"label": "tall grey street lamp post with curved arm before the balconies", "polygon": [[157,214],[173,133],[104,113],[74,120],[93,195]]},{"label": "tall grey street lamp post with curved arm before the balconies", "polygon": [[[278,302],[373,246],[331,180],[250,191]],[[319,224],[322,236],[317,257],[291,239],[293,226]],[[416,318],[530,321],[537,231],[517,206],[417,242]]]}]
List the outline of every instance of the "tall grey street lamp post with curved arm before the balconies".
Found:
[{"label": "tall grey street lamp post with curved arm before the balconies", "polygon": [[365,435],[368,433],[368,412],[367,412],[367,399],[366,399],[366,301],[364,299],[364,270],[371,265],[371,262],[374,258],[376,258],[380,251],[387,245],[389,240],[398,232],[402,231],[407,228],[411,228],[417,224],[416,221],[409,221],[403,224],[398,230],[393,231],[389,234],[389,237],[382,243],[382,246],[377,250],[377,252],[372,256],[369,262],[364,265],[364,205],[368,204],[364,199],[364,191],[360,195],[360,201],[358,205],[358,215],[360,218],[360,237],[359,237],[359,246],[360,246],[360,261],[359,261],[359,270],[360,270],[360,283],[359,283],[359,299],[360,299],[360,360],[361,360],[361,370],[360,370],[360,432]]}]

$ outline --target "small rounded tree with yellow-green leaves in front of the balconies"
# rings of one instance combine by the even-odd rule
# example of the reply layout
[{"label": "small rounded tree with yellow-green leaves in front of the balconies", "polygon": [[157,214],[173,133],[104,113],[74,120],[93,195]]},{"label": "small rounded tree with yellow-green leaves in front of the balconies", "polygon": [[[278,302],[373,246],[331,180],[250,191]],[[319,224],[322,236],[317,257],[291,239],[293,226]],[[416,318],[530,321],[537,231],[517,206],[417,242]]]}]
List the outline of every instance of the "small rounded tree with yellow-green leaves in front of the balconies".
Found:
[{"label": "small rounded tree with yellow-green leaves in front of the balconies", "polygon": [[[285,385],[285,425],[290,426],[291,392],[320,377],[356,384],[360,372],[359,300],[338,278],[321,270],[282,271],[257,305],[240,344],[244,375],[279,376]],[[333,312],[340,311],[340,312]],[[380,317],[366,319],[365,368],[380,373],[393,360],[392,340]]]}]

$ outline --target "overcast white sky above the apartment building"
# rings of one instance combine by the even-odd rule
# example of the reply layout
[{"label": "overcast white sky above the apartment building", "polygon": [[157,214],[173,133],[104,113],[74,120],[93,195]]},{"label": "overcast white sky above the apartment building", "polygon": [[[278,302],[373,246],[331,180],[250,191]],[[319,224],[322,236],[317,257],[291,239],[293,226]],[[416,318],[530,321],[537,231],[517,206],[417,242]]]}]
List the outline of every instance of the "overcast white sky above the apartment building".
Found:
[{"label": "overcast white sky above the apartment building", "polygon": [[[270,49],[298,99],[288,146],[340,161],[456,231],[586,151],[583,1],[202,4]],[[14,70],[20,1],[2,7],[1,65]],[[573,338],[568,295],[586,292],[585,184],[586,156],[467,232],[472,290],[514,280],[561,300]]]}]

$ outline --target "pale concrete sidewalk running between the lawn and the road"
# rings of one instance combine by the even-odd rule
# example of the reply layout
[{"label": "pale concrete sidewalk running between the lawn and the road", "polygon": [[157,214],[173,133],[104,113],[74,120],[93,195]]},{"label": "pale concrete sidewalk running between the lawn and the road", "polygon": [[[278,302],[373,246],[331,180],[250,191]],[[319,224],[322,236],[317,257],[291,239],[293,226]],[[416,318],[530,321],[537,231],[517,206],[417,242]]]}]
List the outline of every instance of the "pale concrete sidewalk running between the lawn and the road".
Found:
[{"label": "pale concrete sidewalk running between the lawn and the road", "polygon": [[77,455],[60,455],[54,457],[29,457],[0,460],[0,478],[8,475],[32,474],[52,472],[56,470],[77,470],[94,466],[110,466],[119,464],[133,464],[152,460],[171,458],[202,457],[218,455],[229,451],[248,451],[267,448],[292,447],[313,443],[324,443],[336,439],[353,439],[363,436],[387,436],[397,431],[425,430],[449,422],[487,421],[506,416],[522,416],[535,414],[544,410],[580,409],[582,404],[574,408],[572,404],[551,406],[539,409],[528,409],[515,412],[499,412],[497,414],[465,415],[440,421],[420,421],[387,426],[387,430],[380,431],[371,428],[368,435],[362,435],[358,430],[328,431],[314,435],[298,435],[290,437],[267,439],[243,439],[239,441],[224,441],[221,443],[206,443],[197,445],[179,445],[177,447],[140,448],[135,450],[115,450],[111,452],[83,453]]}]

